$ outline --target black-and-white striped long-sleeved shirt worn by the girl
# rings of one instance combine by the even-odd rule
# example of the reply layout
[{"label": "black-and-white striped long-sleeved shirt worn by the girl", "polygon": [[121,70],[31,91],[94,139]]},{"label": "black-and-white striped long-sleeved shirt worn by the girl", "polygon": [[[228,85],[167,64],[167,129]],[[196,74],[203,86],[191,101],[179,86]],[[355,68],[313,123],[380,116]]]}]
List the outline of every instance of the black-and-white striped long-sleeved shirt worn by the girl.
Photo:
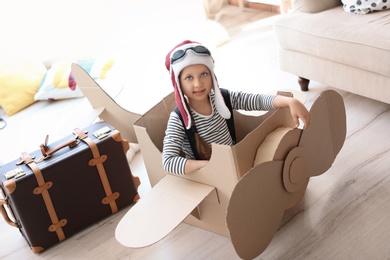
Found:
[{"label": "black-and-white striped long-sleeved shirt worn by the girl", "polygon": [[[272,110],[274,95],[249,94],[243,92],[229,91],[230,102],[235,110]],[[218,114],[215,107],[214,92],[210,92],[212,105],[211,115],[201,115],[191,109],[196,129],[199,136],[208,144],[217,143],[222,145],[232,145],[226,120]],[[185,157],[180,156],[183,151]],[[162,152],[162,162],[164,169],[174,174],[184,174],[184,167],[188,159],[194,159],[191,145],[184,131],[184,125],[175,111],[172,111],[165,131],[164,146]]]}]

